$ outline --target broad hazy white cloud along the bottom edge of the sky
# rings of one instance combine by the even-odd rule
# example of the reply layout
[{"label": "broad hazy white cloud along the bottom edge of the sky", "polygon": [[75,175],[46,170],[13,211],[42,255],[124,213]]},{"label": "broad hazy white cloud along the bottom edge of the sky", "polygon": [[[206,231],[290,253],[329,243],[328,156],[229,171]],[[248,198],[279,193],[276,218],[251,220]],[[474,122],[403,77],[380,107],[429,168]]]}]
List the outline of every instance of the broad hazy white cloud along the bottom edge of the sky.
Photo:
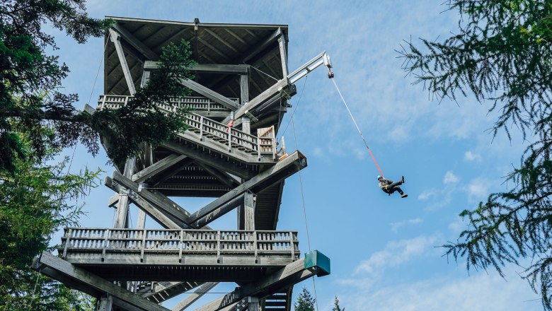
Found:
[{"label": "broad hazy white cloud along the bottom edge of the sky", "polygon": [[512,269],[507,275],[511,277],[506,281],[495,271],[481,271],[469,277],[439,276],[392,286],[367,280],[368,288],[357,291],[348,286],[348,293],[338,297],[348,311],[542,310],[527,282]]}]

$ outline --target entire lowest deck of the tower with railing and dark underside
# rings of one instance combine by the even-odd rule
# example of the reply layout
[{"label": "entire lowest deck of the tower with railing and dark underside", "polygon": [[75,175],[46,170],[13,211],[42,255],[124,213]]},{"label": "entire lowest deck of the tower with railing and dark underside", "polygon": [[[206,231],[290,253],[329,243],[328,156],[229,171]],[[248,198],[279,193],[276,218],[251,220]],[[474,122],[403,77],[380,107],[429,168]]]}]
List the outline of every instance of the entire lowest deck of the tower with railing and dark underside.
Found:
[{"label": "entire lowest deck of the tower with railing and dark underside", "polygon": [[59,255],[112,281],[253,281],[299,259],[295,231],[66,228]]}]

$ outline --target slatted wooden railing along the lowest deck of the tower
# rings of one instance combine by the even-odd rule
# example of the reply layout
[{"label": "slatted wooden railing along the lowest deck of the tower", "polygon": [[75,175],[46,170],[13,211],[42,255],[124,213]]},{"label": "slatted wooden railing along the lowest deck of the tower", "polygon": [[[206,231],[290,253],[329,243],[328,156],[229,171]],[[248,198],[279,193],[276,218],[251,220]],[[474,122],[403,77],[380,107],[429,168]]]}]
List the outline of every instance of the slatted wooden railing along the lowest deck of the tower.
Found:
[{"label": "slatted wooden railing along the lowest deck of the tower", "polygon": [[149,230],[113,228],[66,228],[59,249],[62,258],[71,252],[162,252],[182,259],[183,254],[289,254],[299,258],[297,231],[245,230]]}]

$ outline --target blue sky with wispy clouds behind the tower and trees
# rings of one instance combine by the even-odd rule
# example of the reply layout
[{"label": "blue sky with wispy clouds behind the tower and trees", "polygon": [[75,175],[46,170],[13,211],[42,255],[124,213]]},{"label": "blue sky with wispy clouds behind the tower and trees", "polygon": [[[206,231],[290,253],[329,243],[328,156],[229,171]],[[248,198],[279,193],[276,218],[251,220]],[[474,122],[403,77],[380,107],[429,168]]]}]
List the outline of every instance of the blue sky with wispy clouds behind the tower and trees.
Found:
[{"label": "blue sky with wispy clouds behind the tower and trees", "polygon": [[[508,141],[486,132],[495,116],[488,103],[462,98],[458,104],[432,97],[405,77],[398,53],[402,40],[434,39],[456,29],[456,12],[443,12],[442,1],[88,1],[94,17],[124,16],[204,23],[289,25],[289,69],[326,50],[335,79],[386,177],[404,175],[408,199],[387,196],[376,186],[378,171],[352,124],[325,69],[297,83],[292,99],[298,149],[309,167],[301,172],[311,247],[328,255],[332,274],[316,278],[319,310],[331,310],[333,297],[355,310],[541,310],[517,273],[506,280],[495,271],[471,271],[465,262],[442,257],[436,247],[454,241],[466,227],[457,216],[491,192],[507,189],[503,177],[519,163],[527,146],[519,134]],[[86,45],[57,33],[60,59],[71,74],[67,92],[78,93],[79,107],[92,92],[103,40]],[[103,91],[103,70],[91,105]],[[301,89],[304,91],[301,93]],[[301,98],[299,102],[299,98]],[[284,124],[289,122],[287,114]],[[282,127],[284,128],[284,127]],[[281,135],[282,133],[280,133]],[[292,126],[285,133],[288,151],[295,145]],[[70,155],[72,151],[67,151]],[[92,158],[76,148],[71,166],[102,168],[105,154]],[[102,179],[103,179],[102,177]],[[102,182],[103,183],[103,182]],[[110,227],[113,195],[100,186],[86,198],[83,227]],[[205,199],[178,200],[193,211]],[[132,211],[137,219],[136,208]],[[149,225],[153,225],[149,223]],[[235,228],[235,216],[215,228]],[[299,230],[300,248],[308,250],[299,175],[287,179],[278,228]],[[55,241],[59,241],[58,233]],[[312,281],[302,286],[312,291]],[[231,284],[214,291],[227,292]],[[217,298],[205,295],[200,303]],[[171,307],[180,299],[164,305]]]}]

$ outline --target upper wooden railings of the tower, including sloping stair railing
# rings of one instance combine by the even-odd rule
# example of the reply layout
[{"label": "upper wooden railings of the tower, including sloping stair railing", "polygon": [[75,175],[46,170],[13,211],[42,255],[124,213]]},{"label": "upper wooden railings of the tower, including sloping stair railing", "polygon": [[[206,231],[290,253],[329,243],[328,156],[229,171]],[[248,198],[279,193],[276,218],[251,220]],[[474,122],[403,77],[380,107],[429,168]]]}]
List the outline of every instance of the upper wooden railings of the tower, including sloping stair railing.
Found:
[{"label": "upper wooden railings of the tower, including sloping stair railing", "polygon": [[[120,107],[127,104],[132,96],[120,96],[120,95],[100,95],[100,100],[98,101],[98,110],[102,109],[119,109]],[[168,103],[158,104],[158,107],[165,112],[174,112],[178,107],[185,105],[187,107],[192,107],[190,102],[193,102],[192,99],[196,100],[210,100],[206,98],[180,98],[175,101]],[[187,101],[188,100],[188,101]],[[194,105],[202,106],[202,109],[211,109],[210,105],[219,105],[214,103],[198,103]],[[219,105],[223,107],[222,105]],[[219,108],[217,108],[219,109]],[[226,109],[226,108],[224,108]],[[200,141],[203,141],[205,137],[208,139],[213,139],[214,141],[219,141],[219,143],[224,143],[229,152],[232,151],[232,148],[238,148],[238,150],[244,151],[246,153],[251,153],[257,155],[257,158],[260,160],[261,155],[272,156],[272,160],[276,160],[276,148],[275,148],[275,139],[272,137],[258,137],[246,132],[234,129],[226,124],[222,124],[203,117],[202,115],[197,115],[193,112],[190,112],[187,115],[188,126],[192,131],[199,134]],[[185,134],[177,134],[178,136],[185,139]]]}]

